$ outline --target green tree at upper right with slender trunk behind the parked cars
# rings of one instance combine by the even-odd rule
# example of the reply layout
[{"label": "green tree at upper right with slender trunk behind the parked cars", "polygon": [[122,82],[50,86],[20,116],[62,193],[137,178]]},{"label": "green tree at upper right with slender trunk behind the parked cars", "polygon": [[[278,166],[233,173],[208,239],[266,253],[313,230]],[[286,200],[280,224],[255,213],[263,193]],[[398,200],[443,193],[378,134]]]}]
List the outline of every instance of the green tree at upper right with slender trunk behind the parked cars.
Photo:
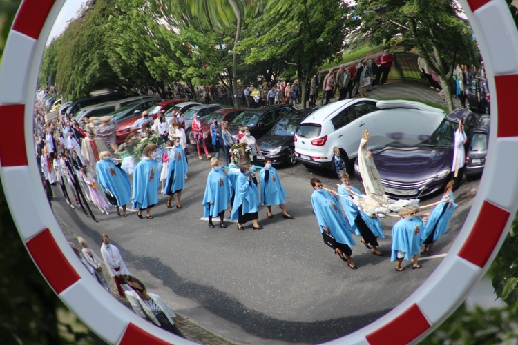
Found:
[{"label": "green tree at upper right with slender trunk behind the parked cars", "polygon": [[451,0],[360,0],[354,9],[359,32],[373,44],[390,42],[401,34],[417,48],[441,81],[448,110],[453,110],[452,72],[459,62],[477,63],[477,42],[461,9]]}]

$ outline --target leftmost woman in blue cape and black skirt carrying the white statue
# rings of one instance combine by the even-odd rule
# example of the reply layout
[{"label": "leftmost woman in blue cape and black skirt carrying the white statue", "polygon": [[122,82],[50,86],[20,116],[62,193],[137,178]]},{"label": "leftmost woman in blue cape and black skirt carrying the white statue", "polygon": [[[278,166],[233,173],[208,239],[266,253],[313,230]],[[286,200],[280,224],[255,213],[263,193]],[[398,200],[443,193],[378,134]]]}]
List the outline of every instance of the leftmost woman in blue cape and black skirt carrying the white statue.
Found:
[{"label": "leftmost woman in blue cape and black skirt carrying the white statue", "polygon": [[352,270],[358,269],[352,261],[351,247],[356,245],[352,238],[352,228],[347,223],[338,204],[338,198],[327,190],[323,190],[319,179],[311,179],[314,192],[311,195],[311,205],[316,215],[318,228],[322,233],[324,242],[327,239],[324,233],[331,234],[336,243],[333,243],[334,253],[340,255],[340,259],[347,261],[347,266]]}]

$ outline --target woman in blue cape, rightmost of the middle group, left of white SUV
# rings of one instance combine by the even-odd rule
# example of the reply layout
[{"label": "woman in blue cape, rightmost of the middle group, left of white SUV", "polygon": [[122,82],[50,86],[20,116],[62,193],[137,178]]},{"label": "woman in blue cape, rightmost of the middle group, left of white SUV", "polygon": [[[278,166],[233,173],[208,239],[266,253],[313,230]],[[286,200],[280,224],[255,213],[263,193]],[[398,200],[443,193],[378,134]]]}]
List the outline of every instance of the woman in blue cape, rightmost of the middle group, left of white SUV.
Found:
[{"label": "woman in blue cape, rightmost of the middle group, left of white SUV", "polygon": [[271,205],[278,205],[280,210],[282,210],[282,217],[284,219],[295,219],[289,215],[284,206],[286,192],[284,188],[282,188],[276,168],[272,168],[271,166],[270,157],[265,158],[265,168],[261,169],[259,175],[261,181],[261,201],[262,204],[268,208],[268,218],[274,217],[274,215],[271,214]]}]

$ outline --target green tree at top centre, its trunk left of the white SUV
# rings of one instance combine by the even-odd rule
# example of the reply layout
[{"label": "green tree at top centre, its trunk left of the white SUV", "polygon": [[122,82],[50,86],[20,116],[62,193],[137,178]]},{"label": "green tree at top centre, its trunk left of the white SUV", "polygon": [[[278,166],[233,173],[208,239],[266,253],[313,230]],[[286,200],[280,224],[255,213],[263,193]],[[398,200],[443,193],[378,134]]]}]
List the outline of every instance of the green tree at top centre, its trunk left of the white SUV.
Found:
[{"label": "green tree at top centre, its trunk left of the white SUV", "polygon": [[251,32],[240,49],[247,50],[249,65],[277,59],[286,75],[301,81],[303,106],[307,80],[317,68],[343,48],[349,32],[349,8],[341,0],[270,1],[260,20],[247,22]]}]

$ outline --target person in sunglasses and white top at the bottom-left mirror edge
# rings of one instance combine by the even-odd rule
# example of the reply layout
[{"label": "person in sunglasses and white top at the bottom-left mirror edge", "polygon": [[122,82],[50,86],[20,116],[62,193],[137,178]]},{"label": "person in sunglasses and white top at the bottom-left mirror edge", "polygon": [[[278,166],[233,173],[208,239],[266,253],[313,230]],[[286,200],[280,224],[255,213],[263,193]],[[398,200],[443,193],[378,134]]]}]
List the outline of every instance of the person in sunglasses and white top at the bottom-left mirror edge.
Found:
[{"label": "person in sunglasses and white top at the bottom-left mirror edge", "polygon": [[167,306],[159,295],[148,293],[146,286],[131,275],[126,277],[126,283],[133,289],[133,291],[126,291],[126,298],[130,302],[135,314],[153,322],[153,324],[165,331],[184,338],[184,335],[182,335],[182,332],[180,332],[178,326],[173,321],[176,314],[171,311],[171,308]]}]

